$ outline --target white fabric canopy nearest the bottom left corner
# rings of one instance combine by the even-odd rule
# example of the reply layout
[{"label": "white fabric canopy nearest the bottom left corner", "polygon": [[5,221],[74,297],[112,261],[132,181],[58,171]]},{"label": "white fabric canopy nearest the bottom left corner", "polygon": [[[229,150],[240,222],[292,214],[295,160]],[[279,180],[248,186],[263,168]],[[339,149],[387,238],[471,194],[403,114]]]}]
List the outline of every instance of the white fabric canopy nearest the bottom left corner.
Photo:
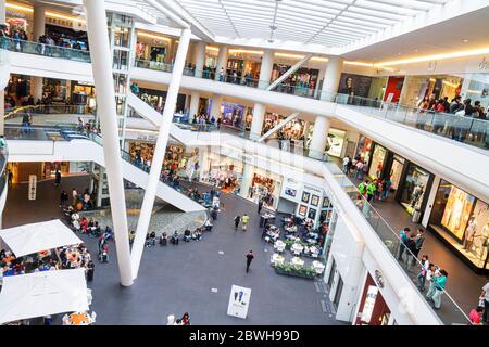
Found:
[{"label": "white fabric canopy nearest the bottom left corner", "polygon": [[84,269],[41,271],[3,278],[0,292],[0,324],[87,310]]}]

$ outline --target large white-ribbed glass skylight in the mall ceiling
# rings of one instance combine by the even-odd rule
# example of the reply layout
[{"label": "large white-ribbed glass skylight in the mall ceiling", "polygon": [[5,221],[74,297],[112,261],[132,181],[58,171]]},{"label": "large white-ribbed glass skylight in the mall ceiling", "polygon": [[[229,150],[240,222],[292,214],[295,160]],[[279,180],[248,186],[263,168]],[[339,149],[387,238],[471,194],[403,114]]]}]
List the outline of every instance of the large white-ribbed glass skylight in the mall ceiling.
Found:
[{"label": "large white-ribbed glass skylight in the mall ceiling", "polygon": [[178,0],[214,36],[340,47],[451,0]]}]

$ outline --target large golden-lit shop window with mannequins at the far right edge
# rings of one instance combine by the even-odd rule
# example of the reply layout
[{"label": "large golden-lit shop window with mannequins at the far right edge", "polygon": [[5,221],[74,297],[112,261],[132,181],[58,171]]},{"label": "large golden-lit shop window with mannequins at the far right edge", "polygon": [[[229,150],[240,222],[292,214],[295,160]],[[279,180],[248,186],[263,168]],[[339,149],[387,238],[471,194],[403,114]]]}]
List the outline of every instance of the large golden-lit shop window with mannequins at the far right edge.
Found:
[{"label": "large golden-lit shop window with mannequins at the far right edge", "polygon": [[486,202],[441,180],[428,228],[474,271],[489,273],[489,206]]}]

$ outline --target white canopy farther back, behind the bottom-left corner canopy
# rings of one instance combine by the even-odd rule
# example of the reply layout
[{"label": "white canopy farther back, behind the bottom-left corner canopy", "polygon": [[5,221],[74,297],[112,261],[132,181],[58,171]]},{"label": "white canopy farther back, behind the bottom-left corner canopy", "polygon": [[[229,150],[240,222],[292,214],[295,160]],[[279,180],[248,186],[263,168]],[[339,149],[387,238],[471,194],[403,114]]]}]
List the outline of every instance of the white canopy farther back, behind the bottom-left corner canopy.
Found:
[{"label": "white canopy farther back, behind the bottom-left corner canopy", "polygon": [[83,243],[59,219],[0,230],[0,239],[16,257]]}]

